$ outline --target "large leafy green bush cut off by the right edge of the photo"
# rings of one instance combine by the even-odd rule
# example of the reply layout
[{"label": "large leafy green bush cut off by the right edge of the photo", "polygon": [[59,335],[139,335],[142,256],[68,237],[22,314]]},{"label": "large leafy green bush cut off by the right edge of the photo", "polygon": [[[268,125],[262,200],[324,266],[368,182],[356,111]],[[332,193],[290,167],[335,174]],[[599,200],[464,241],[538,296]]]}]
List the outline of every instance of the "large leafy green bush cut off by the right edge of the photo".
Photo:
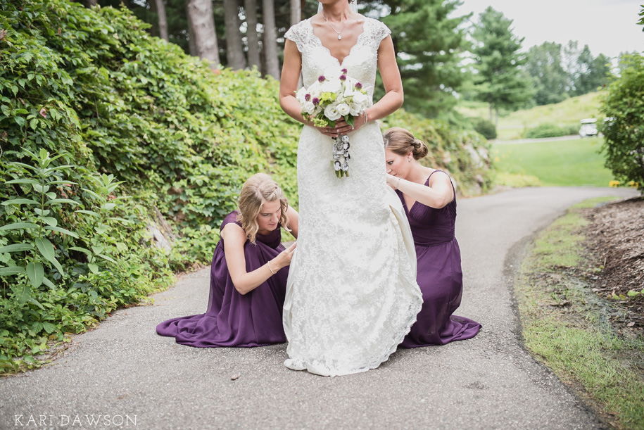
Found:
[{"label": "large leafy green bush cut off by the right edge of the photo", "polygon": [[621,75],[613,77],[600,112],[604,134],[602,151],[605,166],[616,179],[636,182],[644,190],[644,57],[633,53],[622,56]]}]

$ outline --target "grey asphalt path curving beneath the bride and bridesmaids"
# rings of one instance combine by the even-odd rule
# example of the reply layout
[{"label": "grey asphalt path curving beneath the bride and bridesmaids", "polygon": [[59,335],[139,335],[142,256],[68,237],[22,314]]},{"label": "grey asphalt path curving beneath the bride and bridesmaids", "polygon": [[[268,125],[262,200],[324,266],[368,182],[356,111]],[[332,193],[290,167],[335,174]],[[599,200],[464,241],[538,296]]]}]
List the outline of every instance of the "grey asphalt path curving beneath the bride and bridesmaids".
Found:
[{"label": "grey asphalt path curving beneath the bride and bridesmaids", "polygon": [[[94,427],[86,415],[108,415],[97,427],[137,429],[603,428],[522,348],[510,265],[570,205],[633,194],[533,188],[459,201],[465,292],[457,314],[484,327],[472,340],[399,350],[379,369],[325,378],[286,369],[284,345],[201,349],[157,336],[158,322],[206,310],[202,270],[154,305],[119,310],[76,336],[51,366],[1,379],[0,429]],[[39,415],[47,425],[35,425]]]}]

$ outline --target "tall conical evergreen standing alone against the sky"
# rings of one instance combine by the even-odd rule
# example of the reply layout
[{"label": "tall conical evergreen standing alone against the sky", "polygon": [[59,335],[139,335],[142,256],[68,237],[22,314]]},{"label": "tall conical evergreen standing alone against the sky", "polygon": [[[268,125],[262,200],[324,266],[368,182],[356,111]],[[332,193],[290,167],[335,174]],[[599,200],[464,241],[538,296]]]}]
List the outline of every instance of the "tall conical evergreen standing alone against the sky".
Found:
[{"label": "tall conical evergreen standing alone against the sky", "polygon": [[517,39],[510,25],[512,20],[488,6],[473,32],[476,97],[489,104],[493,122],[498,121],[499,108],[515,109],[533,94],[530,77],[520,69],[525,63],[525,56],[519,52],[523,38]]}]

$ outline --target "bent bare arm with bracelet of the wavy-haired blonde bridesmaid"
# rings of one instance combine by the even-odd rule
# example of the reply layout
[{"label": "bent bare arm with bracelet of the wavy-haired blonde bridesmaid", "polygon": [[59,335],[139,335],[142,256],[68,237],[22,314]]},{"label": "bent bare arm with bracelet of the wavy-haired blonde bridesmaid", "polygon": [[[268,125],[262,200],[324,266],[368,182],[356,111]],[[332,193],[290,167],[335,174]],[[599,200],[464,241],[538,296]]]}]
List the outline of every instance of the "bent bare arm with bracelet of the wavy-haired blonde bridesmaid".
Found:
[{"label": "bent bare arm with bracelet of the wavy-haired blonde bridesmaid", "polygon": [[295,249],[295,244],[287,250],[279,253],[277,257],[270,260],[262,267],[246,272],[246,257],[244,256],[244,244],[246,243],[246,233],[244,229],[234,223],[224,226],[221,234],[224,240],[224,253],[226,255],[226,264],[228,273],[235,289],[240,294],[246,294],[266,282],[274,274],[271,269],[277,273],[277,270],[288,266],[291,263],[291,255]]}]

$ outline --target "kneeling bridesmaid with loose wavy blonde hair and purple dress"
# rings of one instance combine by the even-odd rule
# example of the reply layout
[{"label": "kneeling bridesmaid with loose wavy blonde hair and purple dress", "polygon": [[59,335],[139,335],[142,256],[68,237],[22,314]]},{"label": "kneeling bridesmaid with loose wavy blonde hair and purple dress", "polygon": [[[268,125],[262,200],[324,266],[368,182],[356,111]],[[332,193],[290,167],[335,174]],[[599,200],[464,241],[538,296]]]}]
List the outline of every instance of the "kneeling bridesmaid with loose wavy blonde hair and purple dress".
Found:
[{"label": "kneeling bridesmaid with loose wavy blonde hair and purple dress", "polygon": [[156,332],[198,348],[286,342],[282,306],[296,244],[284,249],[280,227],[297,238],[298,213],[270,176],[253,175],[241,189],[239,211],[222,222],[208,310],[162,322]]}]

